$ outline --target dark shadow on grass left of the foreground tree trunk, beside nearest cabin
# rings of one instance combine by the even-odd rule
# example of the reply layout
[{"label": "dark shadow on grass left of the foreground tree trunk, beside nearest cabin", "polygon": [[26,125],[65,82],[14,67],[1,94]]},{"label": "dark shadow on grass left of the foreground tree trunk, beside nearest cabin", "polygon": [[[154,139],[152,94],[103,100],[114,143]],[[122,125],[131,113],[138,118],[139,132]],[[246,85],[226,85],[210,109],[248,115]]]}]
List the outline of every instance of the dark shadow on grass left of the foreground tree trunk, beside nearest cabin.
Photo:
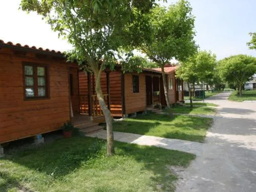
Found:
[{"label": "dark shadow on grass left of the foreground tree trunk, beside nearest cabin", "polygon": [[4,159],[26,165],[38,172],[52,175],[54,178],[60,178],[73,172],[81,163],[96,157],[102,150],[102,144],[97,139],[91,143],[79,138],[81,137],[60,139],[54,141],[54,144],[16,151],[16,154],[8,155]]}]

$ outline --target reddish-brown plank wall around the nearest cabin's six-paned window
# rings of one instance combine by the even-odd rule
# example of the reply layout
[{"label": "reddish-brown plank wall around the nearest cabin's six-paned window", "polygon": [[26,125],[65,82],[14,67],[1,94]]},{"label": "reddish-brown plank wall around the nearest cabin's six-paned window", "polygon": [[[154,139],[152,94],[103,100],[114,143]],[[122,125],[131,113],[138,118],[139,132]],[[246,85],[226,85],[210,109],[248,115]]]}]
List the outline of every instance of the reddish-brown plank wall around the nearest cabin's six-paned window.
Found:
[{"label": "reddish-brown plank wall around the nearest cabin's six-paned window", "polygon": [[[23,61],[49,65],[50,98],[24,100]],[[70,119],[66,61],[0,49],[0,143],[58,130]]]}]

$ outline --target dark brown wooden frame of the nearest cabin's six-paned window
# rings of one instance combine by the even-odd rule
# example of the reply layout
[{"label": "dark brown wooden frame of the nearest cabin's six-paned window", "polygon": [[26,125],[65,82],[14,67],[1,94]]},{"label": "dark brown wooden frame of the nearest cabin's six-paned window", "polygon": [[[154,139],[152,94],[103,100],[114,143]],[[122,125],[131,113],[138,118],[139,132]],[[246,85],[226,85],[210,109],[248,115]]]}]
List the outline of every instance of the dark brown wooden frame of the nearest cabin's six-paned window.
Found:
[{"label": "dark brown wooden frame of the nearest cabin's six-paned window", "polygon": [[[50,75],[49,75],[49,65],[44,63],[37,63],[37,62],[22,62],[23,67],[23,91],[24,91],[24,100],[43,100],[43,99],[50,99]],[[33,67],[33,75],[26,75],[25,74],[25,66],[31,66]],[[37,76],[37,67],[43,67],[45,68],[45,86],[39,86],[39,87],[45,87],[46,89],[46,95],[45,96],[38,96],[38,76]],[[33,86],[26,86],[26,77],[33,77],[34,85]],[[39,76],[40,77],[40,76]],[[26,88],[32,87],[34,88],[34,94],[37,96],[34,97],[27,97],[26,96]]]}]

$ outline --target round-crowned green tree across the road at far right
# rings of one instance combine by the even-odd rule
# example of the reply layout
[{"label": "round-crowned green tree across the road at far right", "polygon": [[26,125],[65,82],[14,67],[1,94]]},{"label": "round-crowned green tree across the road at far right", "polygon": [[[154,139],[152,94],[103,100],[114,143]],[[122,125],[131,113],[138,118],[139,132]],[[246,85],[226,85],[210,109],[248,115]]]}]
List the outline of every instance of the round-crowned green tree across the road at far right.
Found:
[{"label": "round-crowned green tree across the road at far right", "polygon": [[229,84],[236,84],[242,96],[243,84],[256,73],[256,58],[248,55],[234,55],[219,61],[220,77]]}]

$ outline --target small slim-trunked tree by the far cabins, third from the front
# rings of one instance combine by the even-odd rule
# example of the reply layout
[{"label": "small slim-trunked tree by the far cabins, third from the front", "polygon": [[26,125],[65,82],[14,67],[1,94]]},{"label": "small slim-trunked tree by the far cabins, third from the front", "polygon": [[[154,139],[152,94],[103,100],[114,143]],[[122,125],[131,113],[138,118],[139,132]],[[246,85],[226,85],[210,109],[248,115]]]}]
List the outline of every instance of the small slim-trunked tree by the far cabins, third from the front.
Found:
[{"label": "small slim-trunked tree by the far cabins, third from the front", "polygon": [[192,94],[190,91],[190,84],[193,84],[195,87],[195,83],[198,82],[198,75],[195,68],[195,57],[190,57],[186,62],[181,63],[181,66],[176,70],[176,77],[182,79],[187,83],[189,100],[190,100],[190,108],[193,108]]}]

